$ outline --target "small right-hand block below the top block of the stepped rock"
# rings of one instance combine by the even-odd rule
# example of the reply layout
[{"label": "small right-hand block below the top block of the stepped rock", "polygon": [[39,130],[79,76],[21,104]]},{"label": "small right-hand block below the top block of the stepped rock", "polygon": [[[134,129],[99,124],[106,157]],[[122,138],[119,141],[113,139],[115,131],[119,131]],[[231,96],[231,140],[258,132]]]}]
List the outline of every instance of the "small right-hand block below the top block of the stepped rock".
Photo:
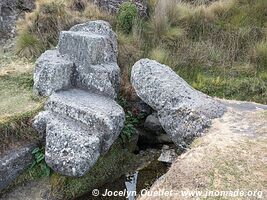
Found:
[{"label": "small right-hand block below the top block of the stepped rock", "polygon": [[78,88],[117,98],[120,86],[120,68],[117,63],[77,66],[75,85]]}]

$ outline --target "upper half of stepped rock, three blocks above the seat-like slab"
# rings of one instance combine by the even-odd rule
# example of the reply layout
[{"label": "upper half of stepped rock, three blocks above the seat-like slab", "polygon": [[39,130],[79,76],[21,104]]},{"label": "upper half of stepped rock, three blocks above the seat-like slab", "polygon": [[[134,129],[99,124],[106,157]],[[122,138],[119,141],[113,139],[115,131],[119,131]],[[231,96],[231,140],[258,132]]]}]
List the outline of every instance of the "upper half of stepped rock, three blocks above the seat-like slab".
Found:
[{"label": "upper half of stepped rock, three blocks above the seat-like slab", "polygon": [[117,37],[109,23],[78,24],[60,34],[58,49],[36,61],[34,89],[41,96],[77,87],[116,98],[120,85]]}]

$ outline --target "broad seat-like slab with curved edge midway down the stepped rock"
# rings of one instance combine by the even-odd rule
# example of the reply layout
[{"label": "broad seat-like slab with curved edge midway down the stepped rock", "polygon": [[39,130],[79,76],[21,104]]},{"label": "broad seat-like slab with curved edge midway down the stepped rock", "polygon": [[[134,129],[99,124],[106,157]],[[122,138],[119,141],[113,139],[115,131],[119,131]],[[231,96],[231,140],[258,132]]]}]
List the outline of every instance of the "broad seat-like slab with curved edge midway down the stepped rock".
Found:
[{"label": "broad seat-like slab with curved edge midway down the stepped rock", "polygon": [[124,126],[125,114],[116,101],[79,89],[54,93],[48,99],[45,109],[102,133],[105,138],[104,151],[108,150]]}]

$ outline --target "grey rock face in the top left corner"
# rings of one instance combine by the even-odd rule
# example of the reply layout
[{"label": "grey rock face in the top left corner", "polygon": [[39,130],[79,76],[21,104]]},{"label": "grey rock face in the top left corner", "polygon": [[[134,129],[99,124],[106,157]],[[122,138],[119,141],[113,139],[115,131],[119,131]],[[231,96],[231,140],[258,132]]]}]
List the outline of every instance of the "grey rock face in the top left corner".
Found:
[{"label": "grey rock face in the top left corner", "polygon": [[0,1],[0,44],[16,34],[16,21],[34,8],[35,0]]}]

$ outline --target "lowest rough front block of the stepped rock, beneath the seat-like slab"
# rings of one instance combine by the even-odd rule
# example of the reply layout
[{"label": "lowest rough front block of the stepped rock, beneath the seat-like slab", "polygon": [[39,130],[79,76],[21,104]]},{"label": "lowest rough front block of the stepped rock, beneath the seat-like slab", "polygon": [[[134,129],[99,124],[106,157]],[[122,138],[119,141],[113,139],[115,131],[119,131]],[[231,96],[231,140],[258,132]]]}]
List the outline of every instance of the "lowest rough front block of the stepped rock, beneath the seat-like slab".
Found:
[{"label": "lowest rough front block of the stepped rock, beneath the seat-like slab", "polygon": [[102,153],[101,134],[68,117],[50,113],[46,134],[46,163],[63,175],[85,175]]}]

